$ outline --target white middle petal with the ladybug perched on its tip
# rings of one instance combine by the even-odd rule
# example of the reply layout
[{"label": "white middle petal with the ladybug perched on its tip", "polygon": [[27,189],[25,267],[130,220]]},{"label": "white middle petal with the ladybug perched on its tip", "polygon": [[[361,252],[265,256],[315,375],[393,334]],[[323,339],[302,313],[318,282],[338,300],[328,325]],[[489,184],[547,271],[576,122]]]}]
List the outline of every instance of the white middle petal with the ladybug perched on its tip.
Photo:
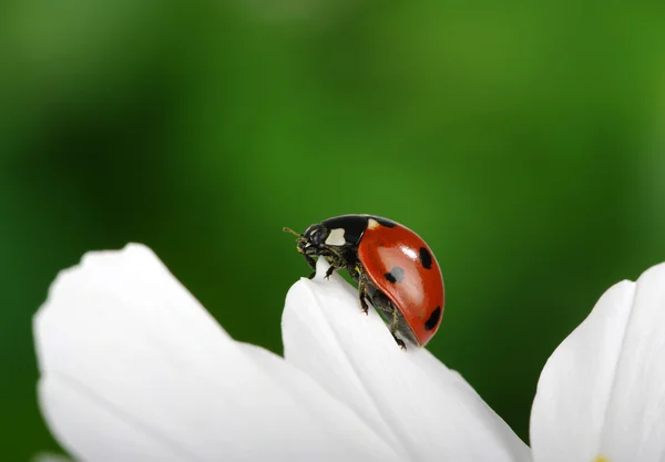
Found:
[{"label": "white middle petal with the ladybug perched on its tip", "polygon": [[303,279],[283,317],[285,357],[349,403],[403,460],[526,461],[529,448],[424,349],[402,351],[338,275]]}]

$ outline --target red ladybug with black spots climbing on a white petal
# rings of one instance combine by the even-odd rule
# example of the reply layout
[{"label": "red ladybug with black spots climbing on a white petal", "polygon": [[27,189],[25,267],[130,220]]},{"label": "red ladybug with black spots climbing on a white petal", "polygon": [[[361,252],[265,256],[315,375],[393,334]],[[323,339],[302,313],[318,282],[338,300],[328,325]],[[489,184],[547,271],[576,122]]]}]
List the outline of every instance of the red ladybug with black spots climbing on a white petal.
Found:
[{"label": "red ladybug with black spots climbing on a white petal", "polygon": [[[347,269],[358,284],[358,298],[383,314],[397,345],[406,339],[424,346],[437,332],[443,315],[446,291],[441,268],[428,245],[399,223],[375,215],[341,215],[314,224],[299,234],[297,249],[314,269],[314,257],[334,271]],[[313,273],[309,278],[313,278]]]}]

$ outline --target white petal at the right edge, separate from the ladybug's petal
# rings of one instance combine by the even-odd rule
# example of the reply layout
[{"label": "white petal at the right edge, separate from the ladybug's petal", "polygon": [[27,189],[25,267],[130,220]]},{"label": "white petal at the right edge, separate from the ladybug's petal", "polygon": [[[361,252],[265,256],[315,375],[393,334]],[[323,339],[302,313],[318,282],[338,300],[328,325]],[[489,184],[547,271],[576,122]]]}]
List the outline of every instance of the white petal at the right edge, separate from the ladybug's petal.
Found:
[{"label": "white petal at the right edge, separate from the ladybug's petal", "polygon": [[607,290],[548,360],[534,460],[665,461],[665,264]]}]

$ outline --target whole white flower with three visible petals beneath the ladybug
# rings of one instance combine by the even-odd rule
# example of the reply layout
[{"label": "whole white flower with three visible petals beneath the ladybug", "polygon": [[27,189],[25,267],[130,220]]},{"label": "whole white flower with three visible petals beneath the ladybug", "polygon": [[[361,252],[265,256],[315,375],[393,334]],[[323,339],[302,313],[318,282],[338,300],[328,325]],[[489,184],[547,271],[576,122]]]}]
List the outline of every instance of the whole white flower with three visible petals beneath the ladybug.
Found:
[{"label": "whole white flower with three visible petals beneath the ladybug", "polygon": [[[661,266],[611,289],[561,345],[532,413],[538,462],[665,460],[664,316]],[[34,329],[42,411],[78,460],[532,458],[457,372],[400,350],[337,275],[290,289],[284,359],[234,341],[139,245],[63,271]]]}]

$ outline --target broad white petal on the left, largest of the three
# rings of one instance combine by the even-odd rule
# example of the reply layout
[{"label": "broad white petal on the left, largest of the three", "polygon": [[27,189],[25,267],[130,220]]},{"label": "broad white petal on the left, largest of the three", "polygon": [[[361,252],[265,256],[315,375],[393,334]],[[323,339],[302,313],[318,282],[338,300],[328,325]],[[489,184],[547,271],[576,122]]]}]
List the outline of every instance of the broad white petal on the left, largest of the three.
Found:
[{"label": "broad white petal on the left, largest of the three", "polygon": [[393,459],[309,377],[233,341],[143,246],[63,271],[34,325],[42,411],[78,459]]}]

